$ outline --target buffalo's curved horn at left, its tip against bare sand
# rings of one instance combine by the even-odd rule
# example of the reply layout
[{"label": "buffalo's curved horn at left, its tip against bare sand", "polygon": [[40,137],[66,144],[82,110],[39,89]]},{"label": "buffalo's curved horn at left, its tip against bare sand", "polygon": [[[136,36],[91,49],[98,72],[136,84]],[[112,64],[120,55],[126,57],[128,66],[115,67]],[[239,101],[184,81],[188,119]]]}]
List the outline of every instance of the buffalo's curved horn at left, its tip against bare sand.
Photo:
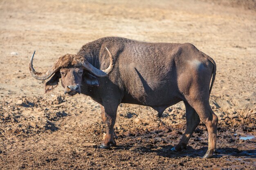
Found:
[{"label": "buffalo's curved horn at left, its tip against bare sand", "polygon": [[54,73],[56,73],[58,70],[55,68],[55,64],[52,66],[52,68],[50,68],[47,72],[45,73],[40,73],[35,71],[35,69],[33,68],[33,58],[35,55],[35,52],[32,54],[30,61],[29,61],[29,71],[31,73],[31,75],[35,78],[35,79],[39,79],[39,80],[45,80],[48,79],[49,77],[51,77]]}]

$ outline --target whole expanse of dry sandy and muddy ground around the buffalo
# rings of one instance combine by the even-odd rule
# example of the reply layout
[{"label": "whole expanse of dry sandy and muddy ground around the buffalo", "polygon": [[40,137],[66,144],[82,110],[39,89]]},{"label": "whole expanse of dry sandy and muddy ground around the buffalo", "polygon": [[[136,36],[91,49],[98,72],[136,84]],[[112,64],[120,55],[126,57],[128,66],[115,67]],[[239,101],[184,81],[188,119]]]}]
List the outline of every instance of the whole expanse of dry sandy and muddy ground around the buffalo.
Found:
[{"label": "whole expanse of dry sandy and muddy ground around the buffalo", "polygon": [[[0,0],[0,169],[255,169],[255,1],[228,2]],[[29,74],[34,50],[34,66],[43,72],[61,55],[105,36],[190,42],[216,61],[210,97],[219,117],[215,158],[201,158],[204,124],[186,150],[171,152],[186,126],[182,103],[165,110],[163,123],[149,107],[121,104],[118,146],[99,149],[99,104],[66,96],[61,86],[44,94],[44,82]]]}]

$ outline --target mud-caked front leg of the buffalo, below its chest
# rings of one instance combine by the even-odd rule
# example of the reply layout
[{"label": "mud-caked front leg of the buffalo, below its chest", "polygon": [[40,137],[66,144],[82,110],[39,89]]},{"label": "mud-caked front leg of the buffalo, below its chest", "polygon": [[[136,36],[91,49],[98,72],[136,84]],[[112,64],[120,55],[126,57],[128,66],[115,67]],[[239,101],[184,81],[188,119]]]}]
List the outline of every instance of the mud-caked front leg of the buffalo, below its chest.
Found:
[{"label": "mud-caked front leg of the buffalo, below its chest", "polygon": [[103,137],[103,142],[100,148],[110,149],[110,146],[115,146],[116,142],[114,137],[114,125],[117,118],[117,106],[113,106],[111,104],[101,105],[101,117],[103,119],[104,124],[106,125],[106,135]]}]

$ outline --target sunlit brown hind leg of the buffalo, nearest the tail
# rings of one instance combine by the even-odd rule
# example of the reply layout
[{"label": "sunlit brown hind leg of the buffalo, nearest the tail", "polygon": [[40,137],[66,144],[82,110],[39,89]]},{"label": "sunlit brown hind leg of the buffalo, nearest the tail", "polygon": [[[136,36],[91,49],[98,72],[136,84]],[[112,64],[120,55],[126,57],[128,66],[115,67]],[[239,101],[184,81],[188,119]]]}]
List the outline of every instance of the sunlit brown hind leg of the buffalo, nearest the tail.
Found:
[{"label": "sunlit brown hind leg of the buffalo, nearest the tail", "polygon": [[216,149],[218,117],[215,115],[208,100],[190,102],[208,130],[208,150],[203,158],[212,158]]}]

